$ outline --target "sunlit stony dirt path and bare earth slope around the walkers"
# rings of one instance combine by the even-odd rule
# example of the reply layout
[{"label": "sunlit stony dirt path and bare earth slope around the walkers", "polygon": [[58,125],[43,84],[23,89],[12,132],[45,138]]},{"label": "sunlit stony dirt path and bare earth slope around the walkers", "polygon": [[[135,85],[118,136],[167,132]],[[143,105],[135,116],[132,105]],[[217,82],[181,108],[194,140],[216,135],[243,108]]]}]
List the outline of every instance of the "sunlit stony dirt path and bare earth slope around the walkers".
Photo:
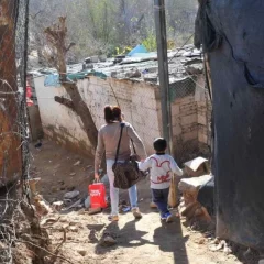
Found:
[{"label": "sunlit stony dirt path and bare earth slope around the walkers", "polygon": [[[69,189],[87,196],[92,180],[92,160],[69,153],[55,143],[44,141],[41,150],[32,146],[32,176],[41,177],[37,186],[48,202],[62,200]],[[74,165],[78,164],[78,165]],[[85,209],[51,213],[44,223],[48,230],[52,250],[61,243],[55,263],[163,263],[163,264],[237,264],[232,254],[210,251],[212,238],[185,227],[185,220],[175,217],[173,223],[162,223],[157,211],[151,209],[148,182],[138,186],[141,220],[131,212],[120,216],[118,223],[107,220],[109,211],[89,216]],[[127,191],[120,193],[128,200]],[[102,233],[110,233],[117,244],[102,246]],[[66,235],[66,237],[64,237]],[[65,241],[64,241],[65,240]]]}]

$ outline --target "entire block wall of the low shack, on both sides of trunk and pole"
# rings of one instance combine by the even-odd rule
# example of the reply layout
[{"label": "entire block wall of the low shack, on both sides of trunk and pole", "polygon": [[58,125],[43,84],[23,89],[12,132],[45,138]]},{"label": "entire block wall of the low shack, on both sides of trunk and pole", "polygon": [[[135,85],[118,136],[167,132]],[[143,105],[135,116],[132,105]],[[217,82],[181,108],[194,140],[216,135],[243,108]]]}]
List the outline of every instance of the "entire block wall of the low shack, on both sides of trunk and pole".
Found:
[{"label": "entire block wall of the low shack, on both sides of trunk and pole", "polygon": [[[47,136],[81,153],[90,152],[90,144],[81,129],[79,118],[54,96],[67,97],[62,87],[44,87],[44,79],[35,80],[43,129]],[[162,114],[158,86],[130,79],[101,79],[89,77],[78,80],[78,88],[94,117],[96,127],[105,124],[103,107],[119,105],[125,121],[130,122],[143,140],[148,154],[153,140],[162,135]],[[176,156],[197,152],[199,141],[207,144],[206,101],[197,95],[172,102],[172,121]]]}]

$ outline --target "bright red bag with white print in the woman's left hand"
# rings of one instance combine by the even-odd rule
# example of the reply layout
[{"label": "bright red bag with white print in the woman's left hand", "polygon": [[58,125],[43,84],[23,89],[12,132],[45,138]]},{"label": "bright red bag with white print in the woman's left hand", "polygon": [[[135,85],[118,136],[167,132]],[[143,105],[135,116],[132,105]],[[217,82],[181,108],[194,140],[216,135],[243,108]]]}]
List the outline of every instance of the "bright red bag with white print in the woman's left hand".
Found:
[{"label": "bright red bag with white print in the woman's left hand", "polygon": [[94,183],[89,185],[90,207],[106,208],[106,187],[102,183]]}]

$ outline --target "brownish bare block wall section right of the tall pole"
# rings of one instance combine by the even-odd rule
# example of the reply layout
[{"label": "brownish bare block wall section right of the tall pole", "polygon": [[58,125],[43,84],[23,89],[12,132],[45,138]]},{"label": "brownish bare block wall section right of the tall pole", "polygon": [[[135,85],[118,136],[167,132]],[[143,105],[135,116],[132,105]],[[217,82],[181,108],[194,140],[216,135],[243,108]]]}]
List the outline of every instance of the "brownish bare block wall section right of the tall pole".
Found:
[{"label": "brownish bare block wall section right of the tall pole", "polygon": [[211,103],[205,89],[205,78],[200,75],[193,94],[172,101],[174,154],[178,162],[209,154],[210,121]]}]

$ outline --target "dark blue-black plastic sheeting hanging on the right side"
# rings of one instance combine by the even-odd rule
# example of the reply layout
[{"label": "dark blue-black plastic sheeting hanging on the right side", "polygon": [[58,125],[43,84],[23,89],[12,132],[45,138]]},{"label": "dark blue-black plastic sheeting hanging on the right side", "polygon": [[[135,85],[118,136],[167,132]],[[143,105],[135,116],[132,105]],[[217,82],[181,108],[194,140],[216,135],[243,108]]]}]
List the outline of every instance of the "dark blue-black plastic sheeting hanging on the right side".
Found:
[{"label": "dark blue-black plastic sheeting hanging on the right side", "polygon": [[[211,0],[202,8],[222,35],[209,53],[217,234],[264,249],[264,1]],[[206,46],[206,31],[197,30]]]}]

